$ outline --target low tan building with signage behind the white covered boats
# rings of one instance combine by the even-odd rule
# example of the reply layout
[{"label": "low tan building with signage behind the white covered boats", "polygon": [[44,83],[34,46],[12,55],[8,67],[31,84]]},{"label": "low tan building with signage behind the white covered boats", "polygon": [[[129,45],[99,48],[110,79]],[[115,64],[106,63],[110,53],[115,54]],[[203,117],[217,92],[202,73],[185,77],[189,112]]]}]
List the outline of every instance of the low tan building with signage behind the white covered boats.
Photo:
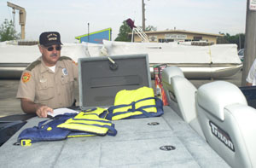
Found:
[{"label": "low tan building with signage behind the white covered boats", "polygon": [[[167,30],[145,32],[150,43],[168,43],[168,42],[206,42],[217,43],[217,38],[222,37],[220,34],[206,32],[189,32],[184,30]],[[131,36],[131,33],[129,33]],[[134,42],[142,42],[142,39],[134,34]]]}]

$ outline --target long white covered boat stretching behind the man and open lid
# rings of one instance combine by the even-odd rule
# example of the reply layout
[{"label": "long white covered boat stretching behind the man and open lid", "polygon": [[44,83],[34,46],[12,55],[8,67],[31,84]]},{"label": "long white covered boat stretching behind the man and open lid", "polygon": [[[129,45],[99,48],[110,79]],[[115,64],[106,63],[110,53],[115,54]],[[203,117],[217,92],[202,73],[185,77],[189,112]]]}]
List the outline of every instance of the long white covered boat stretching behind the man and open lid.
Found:
[{"label": "long white covered boat stretching behind the man and open lid", "polygon": [[[64,43],[61,55],[81,57],[148,54],[151,77],[154,65],[180,67],[187,78],[226,78],[238,72],[241,61],[236,44],[194,46],[189,43],[128,43],[103,40],[96,43]],[[19,78],[40,53],[37,45],[0,43],[0,78]]]}]

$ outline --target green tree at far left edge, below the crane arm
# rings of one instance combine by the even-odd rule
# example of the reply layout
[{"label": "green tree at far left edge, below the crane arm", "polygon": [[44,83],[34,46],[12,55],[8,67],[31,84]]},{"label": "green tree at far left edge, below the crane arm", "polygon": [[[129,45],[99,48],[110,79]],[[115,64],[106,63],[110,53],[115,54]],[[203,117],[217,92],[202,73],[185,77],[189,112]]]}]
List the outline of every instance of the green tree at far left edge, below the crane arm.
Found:
[{"label": "green tree at far left edge, below the crane arm", "polygon": [[0,27],[0,42],[20,39],[20,35],[15,31],[12,20],[5,19]]}]

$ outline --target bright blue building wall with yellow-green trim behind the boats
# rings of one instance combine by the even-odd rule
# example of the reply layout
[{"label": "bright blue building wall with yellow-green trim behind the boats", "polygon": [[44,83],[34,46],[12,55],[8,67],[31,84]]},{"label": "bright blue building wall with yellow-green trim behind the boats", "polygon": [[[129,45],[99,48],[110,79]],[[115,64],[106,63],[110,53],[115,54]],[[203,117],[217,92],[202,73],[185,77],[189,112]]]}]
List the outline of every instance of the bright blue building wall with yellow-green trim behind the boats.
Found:
[{"label": "bright blue building wall with yellow-green trim behind the boats", "polygon": [[112,29],[107,28],[97,32],[90,32],[89,34],[84,34],[75,38],[79,40],[79,43],[82,43],[82,42],[102,43],[103,39],[110,41],[111,35],[112,35]]}]

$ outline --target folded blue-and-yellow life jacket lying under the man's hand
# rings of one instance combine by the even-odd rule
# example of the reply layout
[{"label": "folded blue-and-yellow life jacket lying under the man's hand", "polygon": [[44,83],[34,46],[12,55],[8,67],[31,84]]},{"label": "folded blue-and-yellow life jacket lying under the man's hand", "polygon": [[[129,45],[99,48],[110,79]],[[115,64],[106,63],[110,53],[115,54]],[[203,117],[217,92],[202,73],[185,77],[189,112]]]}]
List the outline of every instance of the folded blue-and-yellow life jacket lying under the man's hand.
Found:
[{"label": "folded blue-and-yellow life jacket lying under the man's hand", "polygon": [[117,130],[111,121],[104,119],[107,110],[95,108],[79,114],[65,113],[38,123],[38,126],[22,130],[17,144],[30,146],[34,142],[64,140],[67,137],[115,136]]}]

